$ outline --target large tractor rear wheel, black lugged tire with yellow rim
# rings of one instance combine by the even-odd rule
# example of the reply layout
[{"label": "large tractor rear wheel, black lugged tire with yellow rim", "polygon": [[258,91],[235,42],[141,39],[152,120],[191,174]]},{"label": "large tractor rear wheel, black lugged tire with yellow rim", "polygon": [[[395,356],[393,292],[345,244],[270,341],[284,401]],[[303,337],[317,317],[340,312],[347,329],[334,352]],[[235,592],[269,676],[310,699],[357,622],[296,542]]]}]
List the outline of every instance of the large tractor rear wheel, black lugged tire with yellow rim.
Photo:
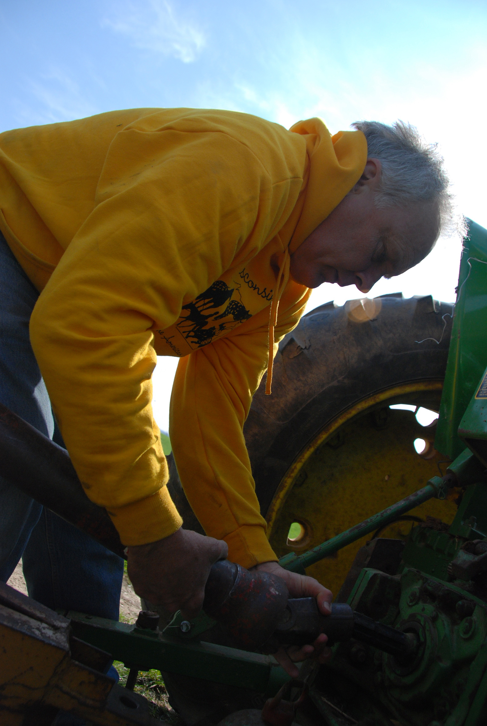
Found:
[{"label": "large tractor rear wheel, black lugged tire with yellow rim", "polygon": [[[271,396],[263,380],[253,398],[245,440],[279,557],[315,547],[440,473],[444,457],[433,449],[435,424],[424,428],[414,411],[389,406],[438,412],[452,306],[401,293],[375,302],[375,316],[364,315],[363,322],[350,303],[311,310],[279,345]],[[414,450],[418,438],[429,447],[425,457]],[[427,515],[453,518],[454,505],[445,510],[434,500],[412,512],[417,520]],[[302,526],[295,541],[287,537],[292,522]],[[405,538],[411,521],[401,528],[381,537]],[[308,574],[338,592],[366,539]]]}]

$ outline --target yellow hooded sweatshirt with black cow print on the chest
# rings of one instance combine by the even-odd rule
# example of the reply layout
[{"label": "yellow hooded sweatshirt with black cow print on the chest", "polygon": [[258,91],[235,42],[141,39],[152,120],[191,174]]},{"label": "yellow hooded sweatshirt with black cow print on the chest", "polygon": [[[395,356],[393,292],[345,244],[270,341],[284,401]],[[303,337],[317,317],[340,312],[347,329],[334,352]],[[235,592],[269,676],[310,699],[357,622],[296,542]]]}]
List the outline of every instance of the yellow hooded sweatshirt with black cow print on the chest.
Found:
[{"label": "yellow hooded sweatshirt with black cow print on the chest", "polygon": [[232,560],[277,559],[242,427],[309,296],[289,277],[290,252],[366,158],[359,131],[218,110],[0,134],[0,228],[41,290],[33,349],[78,476],[124,544],[181,526],[151,407],[156,355],[170,355],[171,443],[190,504]]}]

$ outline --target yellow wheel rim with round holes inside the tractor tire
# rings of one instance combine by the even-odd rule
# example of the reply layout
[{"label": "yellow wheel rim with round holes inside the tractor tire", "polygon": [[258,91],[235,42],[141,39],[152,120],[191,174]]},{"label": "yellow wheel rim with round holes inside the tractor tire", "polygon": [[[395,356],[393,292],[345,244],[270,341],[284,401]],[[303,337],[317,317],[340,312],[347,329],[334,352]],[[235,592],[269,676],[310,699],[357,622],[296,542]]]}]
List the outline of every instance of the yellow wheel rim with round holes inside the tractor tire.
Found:
[{"label": "yellow wheel rim with round holes inside the tractor tire", "polygon": [[[375,393],[342,412],[300,453],[279,485],[267,514],[268,537],[279,557],[306,552],[361,520],[412,494],[432,476],[438,476],[434,454],[422,458],[414,449],[417,438],[433,441],[434,428],[417,423],[414,412],[392,410],[391,403],[419,403],[427,393],[439,399],[443,383],[414,381]],[[456,507],[433,499],[409,516],[429,516],[451,522]],[[291,523],[299,523],[298,541],[288,542]],[[405,539],[412,521],[393,523],[380,537]],[[308,568],[336,595],[357,550],[373,535]]]}]

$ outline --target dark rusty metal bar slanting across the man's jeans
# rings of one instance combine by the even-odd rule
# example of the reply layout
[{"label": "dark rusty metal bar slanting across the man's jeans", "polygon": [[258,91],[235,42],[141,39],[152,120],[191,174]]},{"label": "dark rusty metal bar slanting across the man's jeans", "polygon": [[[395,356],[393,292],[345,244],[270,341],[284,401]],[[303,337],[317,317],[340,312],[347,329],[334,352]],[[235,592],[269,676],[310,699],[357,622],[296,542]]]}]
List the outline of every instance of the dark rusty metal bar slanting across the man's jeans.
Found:
[{"label": "dark rusty metal bar slanting across the man's jeans", "polygon": [[0,404],[1,475],[29,497],[124,557],[107,510],[86,496],[69,454]]}]

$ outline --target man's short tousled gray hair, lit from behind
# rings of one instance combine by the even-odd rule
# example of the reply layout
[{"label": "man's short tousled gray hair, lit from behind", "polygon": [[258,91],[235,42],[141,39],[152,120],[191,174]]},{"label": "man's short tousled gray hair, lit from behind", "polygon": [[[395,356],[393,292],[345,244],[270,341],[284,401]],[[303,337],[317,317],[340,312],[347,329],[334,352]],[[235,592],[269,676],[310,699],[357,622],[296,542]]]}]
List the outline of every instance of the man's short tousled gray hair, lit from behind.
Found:
[{"label": "man's short tousled gray hair, lit from behind", "polygon": [[356,121],[352,126],[365,135],[369,158],[377,158],[382,164],[377,206],[436,202],[441,231],[462,234],[464,221],[454,214],[454,198],[438,144],[427,144],[417,129],[404,121],[396,121],[393,126]]}]

